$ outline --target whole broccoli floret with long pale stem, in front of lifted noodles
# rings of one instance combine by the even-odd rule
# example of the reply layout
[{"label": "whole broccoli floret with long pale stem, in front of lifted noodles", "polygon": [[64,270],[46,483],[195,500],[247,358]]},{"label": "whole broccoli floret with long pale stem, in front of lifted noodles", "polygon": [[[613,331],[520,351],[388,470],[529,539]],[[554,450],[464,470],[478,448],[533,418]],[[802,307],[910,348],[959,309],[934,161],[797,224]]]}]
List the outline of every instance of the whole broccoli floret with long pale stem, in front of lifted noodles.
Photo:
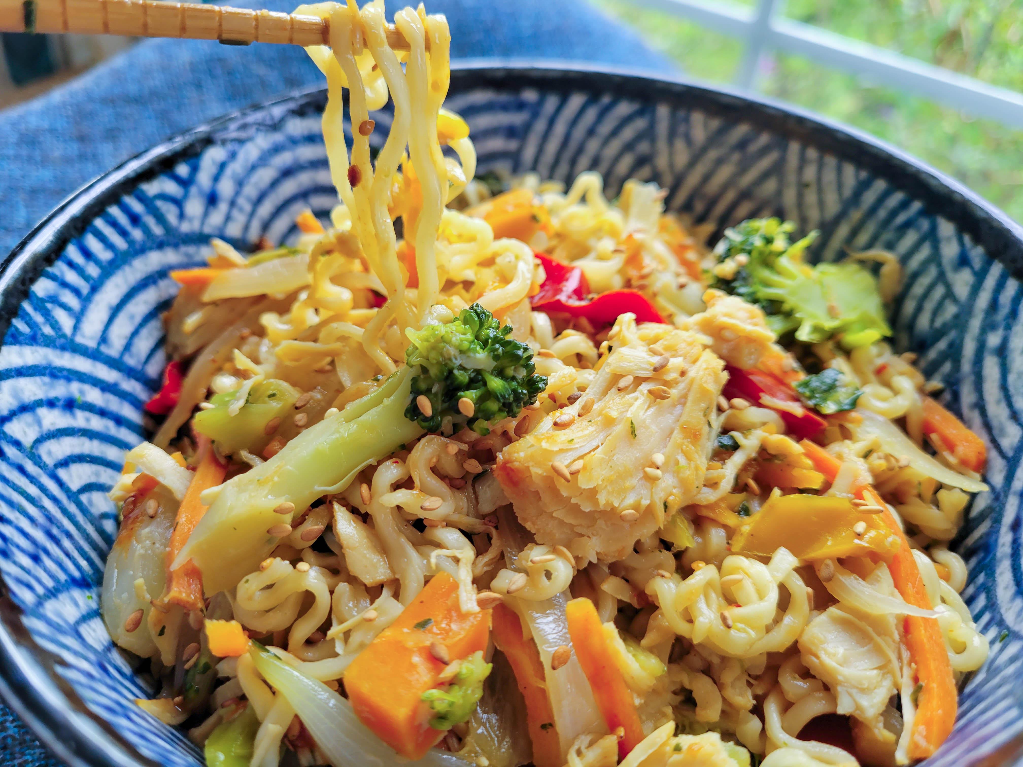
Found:
[{"label": "whole broccoli floret with long pale stem, in front of lifted noodles", "polygon": [[[509,332],[474,304],[451,322],[409,333],[408,364],[375,391],[222,485],[175,562],[190,557],[207,594],[229,591],[277,545],[271,529],[282,529],[317,498],[342,492],[363,468],[425,431],[438,431],[445,416],[465,422],[458,411],[461,397],[476,404],[468,421],[478,432],[489,420],[517,415],[536,401],[547,379],[535,374],[532,350],[508,339]],[[415,404],[419,394],[433,403],[429,417]],[[288,503],[294,511],[274,510]]]}]

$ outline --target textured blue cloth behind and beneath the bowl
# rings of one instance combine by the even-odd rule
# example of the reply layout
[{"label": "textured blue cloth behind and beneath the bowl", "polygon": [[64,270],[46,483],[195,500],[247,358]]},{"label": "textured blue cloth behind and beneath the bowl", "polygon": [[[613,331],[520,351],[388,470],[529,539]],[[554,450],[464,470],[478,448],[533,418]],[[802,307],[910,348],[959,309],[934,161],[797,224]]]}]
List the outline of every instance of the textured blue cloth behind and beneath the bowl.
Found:
[{"label": "textured blue cloth behind and beneath the bowl", "polygon": [[[291,10],[297,1],[236,4]],[[389,2],[389,14],[397,4]],[[447,15],[453,58],[674,70],[585,0],[428,0],[428,9]],[[41,98],[0,111],[0,254],[76,188],[133,154],[198,123],[321,79],[300,48],[153,40]],[[0,706],[0,765],[56,764]]]}]

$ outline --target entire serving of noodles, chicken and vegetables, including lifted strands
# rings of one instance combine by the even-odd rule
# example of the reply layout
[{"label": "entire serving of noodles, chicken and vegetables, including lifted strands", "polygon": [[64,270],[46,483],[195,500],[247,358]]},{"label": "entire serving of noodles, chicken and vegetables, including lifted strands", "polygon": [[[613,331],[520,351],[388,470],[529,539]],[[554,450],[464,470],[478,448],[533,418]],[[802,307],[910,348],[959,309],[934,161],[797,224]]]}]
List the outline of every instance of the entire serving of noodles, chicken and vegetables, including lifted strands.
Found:
[{"label": "entire serving of noodles, chicken and vegetables, including lifted strands", "polygon": [[102,593],[139,705],[255,767],[932,754],[985,454],[887,340],[898,261],[478,176],[442,16],[300,10],[339,204],[172,273]]}]

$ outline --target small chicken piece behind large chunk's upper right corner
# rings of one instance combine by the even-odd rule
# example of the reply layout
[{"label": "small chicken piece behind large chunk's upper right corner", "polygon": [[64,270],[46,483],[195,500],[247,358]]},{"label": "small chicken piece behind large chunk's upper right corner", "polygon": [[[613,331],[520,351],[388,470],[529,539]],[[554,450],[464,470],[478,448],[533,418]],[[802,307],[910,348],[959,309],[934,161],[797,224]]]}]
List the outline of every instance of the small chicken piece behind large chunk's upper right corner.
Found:
[{"label": "small chicken piece behind large chunk's upper right corner", "polygon": [[692,318],[692,327],[714,342],[725,362],[745,370],[771,351],[774,333],[759,307],[721,290],[707,290],[703,298],[707,310]]}]

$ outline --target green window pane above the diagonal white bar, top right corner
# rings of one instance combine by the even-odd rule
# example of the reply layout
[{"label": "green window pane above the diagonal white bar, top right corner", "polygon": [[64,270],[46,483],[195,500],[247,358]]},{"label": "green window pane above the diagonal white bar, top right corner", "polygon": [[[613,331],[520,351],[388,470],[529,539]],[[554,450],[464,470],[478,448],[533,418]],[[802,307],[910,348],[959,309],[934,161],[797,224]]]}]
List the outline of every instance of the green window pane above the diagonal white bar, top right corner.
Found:
[{"label": "green window pane above the diagonal white bar, top right corner", "polygon": [[788,0],[785,14],[1023,91],[1019,0]]}]

